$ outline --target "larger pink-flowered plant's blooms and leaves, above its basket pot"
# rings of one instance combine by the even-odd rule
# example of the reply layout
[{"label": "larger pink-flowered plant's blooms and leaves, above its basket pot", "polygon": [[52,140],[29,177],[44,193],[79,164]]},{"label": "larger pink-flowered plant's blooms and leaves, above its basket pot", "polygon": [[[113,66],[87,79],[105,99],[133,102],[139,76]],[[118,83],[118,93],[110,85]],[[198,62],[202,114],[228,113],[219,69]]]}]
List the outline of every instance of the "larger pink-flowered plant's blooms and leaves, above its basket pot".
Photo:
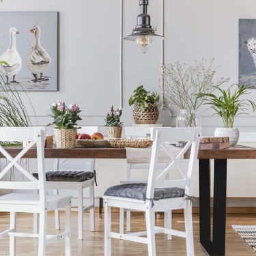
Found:
[{"label": "larger pink-flowered plant's blooms and leaves, above its basket pot", "polygon": [[[76,127],[76,122],[82,120],[79,116],[81,110],[76,103],[72,103],[69,106],[66,106],[65,102],[58,100],[56,103],[53,103],[51,106],[51,111],[53,115],[53,123],[58,129],[72,129],[79,128]],[[51,125],[51,124],[48,124]]]}]

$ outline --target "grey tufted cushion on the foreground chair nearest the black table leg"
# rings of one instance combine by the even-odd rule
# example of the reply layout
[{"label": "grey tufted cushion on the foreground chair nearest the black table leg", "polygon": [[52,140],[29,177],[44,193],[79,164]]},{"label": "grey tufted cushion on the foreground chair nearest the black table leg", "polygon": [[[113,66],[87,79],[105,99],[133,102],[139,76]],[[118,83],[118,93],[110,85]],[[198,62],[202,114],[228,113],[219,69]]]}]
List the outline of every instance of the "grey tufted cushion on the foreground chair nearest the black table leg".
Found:
[{"label": "grey tufted cushion on the foreground chair nearest the black table leg", "polygon": [[[104,195],[111,197],[130,197],[145,201],[147,193],[147,184],[129,183],[108,188]],[[184,188],[155,188],[154,200],[170,197],[184,197]]]}]

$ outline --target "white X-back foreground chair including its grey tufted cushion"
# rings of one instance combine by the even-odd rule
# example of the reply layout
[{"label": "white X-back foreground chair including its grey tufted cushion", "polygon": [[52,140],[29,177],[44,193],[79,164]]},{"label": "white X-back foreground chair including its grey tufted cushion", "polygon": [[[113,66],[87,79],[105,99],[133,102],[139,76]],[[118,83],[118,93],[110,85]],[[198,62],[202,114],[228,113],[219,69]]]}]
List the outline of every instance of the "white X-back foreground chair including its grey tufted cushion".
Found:
[{"label": "white X-back foreground chair including its grey tufted cushion", "polygon": [[[151,136],[153,145],[147,184],[119,184],[108,188],[103,195],[105,256],[111,255],[112,238],[147,244],[148,255],[155,256],[156,233],[186,238],[187,255],[194,255],[192,198],[199,150],[199,128],[152,128]],[[186,145],[183,148],[170,145],[176,141],[186,141]],[[165,169],[159,170],[158,158],[162,150],[169,156],[170,162]],[[184,165],[184,154],[188,150],[190,151],[188,165]],[[167,173],[169,173],[168,180]],[[113,207],[145,212],[146,231],[130,233],[113,231],[111,227],[111,208]],[[155,212],[174,209],[184,210],[185,231],[155,225]]]}]

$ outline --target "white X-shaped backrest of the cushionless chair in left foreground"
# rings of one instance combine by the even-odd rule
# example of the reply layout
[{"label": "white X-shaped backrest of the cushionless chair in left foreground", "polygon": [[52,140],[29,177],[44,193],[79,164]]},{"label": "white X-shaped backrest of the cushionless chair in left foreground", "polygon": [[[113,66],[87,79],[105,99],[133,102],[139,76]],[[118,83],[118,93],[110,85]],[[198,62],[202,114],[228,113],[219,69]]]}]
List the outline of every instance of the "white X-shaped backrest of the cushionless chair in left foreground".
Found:
[{"label": "white X-shaped backrest of the cushionless chair in left foreground", "polygon": [[[6,159],[6,166],[1,168],[0,172],[0,189],[8,190],[39,190],[40,200],[45,203],[46,192],[45,186],[45,175],[44,175],[44,140],[45,140],[45,129],[44,127],[0,127],[0,152]],[[25,147],[16,155],[11,156],[4,147],[4,144],[14,142],[28,142],[24,143]],[[36,147],[37,151],[37,169],[38,171],[37,180],[33,177],[32,172],[29,171],[29,166],[24,165],[24,161],[21,160],[25,153]],[[23,180],[6,180],[6,174],[12,173],[11,177],[15,173],[21,173]]]}]

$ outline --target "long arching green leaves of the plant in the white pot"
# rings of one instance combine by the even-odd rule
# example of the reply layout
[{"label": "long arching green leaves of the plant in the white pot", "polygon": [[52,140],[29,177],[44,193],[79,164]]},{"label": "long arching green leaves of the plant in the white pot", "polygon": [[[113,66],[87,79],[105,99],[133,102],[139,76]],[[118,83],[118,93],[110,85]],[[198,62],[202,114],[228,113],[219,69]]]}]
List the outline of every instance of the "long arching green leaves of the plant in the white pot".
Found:
[{"label": "long arching green leaves of the plant in the white pot", "polygon": [[[236,84],[234,84],[236,85]],[[246,110],[248,106],[251,106],[253,111],[256,109],[256,104],[252,100],[241,98],[248,92],[248,87],[246,85],[236,85],[238,88],[231,92],[231,85],[227,90],[221,89],[220,87],[215,87],[221,96],[216,96],[215,94],[199,94],[200,97],[205,98],[204,104],[210,104],[211,108],[214,109],[215,115],[219,115],[223,120],[225,128],[233,128],[234,119],[238,115],[247,114]]]}]

